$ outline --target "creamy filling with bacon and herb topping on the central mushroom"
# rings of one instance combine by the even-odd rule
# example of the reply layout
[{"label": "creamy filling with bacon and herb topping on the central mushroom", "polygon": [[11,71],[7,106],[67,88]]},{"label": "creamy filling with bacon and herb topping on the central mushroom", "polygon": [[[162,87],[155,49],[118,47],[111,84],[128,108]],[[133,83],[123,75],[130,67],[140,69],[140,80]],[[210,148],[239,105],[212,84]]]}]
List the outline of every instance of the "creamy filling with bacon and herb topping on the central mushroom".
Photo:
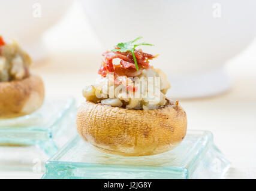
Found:
[{"label": "creamy filling with bacon and herb topping on the central mushroom", "polygon": [[119,43],[115,50],[103,53],[103,63],[94,85],[83,89],[83,96],[94,103],[126,109],[158,109],[167,103],[165,94],[170,88],[167,77],[160,69],[150,66],[156,58],[135,48],[140,39]]}]

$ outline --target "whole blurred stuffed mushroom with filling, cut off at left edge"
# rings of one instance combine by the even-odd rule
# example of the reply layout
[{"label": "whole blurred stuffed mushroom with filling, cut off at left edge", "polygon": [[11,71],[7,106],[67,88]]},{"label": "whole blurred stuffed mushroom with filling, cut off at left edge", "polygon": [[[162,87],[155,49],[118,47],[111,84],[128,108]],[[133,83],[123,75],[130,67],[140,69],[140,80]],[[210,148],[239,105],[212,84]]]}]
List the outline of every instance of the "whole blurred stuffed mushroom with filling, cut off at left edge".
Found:
[{"label": "whole blurred stuffed mushroom with filling, cut off at left edge", "polygon": [[0,119],[28,115],[43,104],[44,84],[29,72],[31,63],[16,41],[0,36]]}]

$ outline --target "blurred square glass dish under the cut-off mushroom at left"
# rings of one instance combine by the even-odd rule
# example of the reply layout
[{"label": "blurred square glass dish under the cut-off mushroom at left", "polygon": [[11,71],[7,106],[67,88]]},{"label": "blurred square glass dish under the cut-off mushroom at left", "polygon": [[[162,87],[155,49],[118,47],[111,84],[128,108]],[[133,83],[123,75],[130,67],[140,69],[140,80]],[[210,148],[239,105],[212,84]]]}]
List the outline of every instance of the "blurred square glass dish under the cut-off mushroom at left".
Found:
[{"label": "blurred square glass dish under the cut-off mushroom at left", "polygon": [[76,133],[74,98],[47,98],[36,112],[0,120],[0,170],[30,170]]}]

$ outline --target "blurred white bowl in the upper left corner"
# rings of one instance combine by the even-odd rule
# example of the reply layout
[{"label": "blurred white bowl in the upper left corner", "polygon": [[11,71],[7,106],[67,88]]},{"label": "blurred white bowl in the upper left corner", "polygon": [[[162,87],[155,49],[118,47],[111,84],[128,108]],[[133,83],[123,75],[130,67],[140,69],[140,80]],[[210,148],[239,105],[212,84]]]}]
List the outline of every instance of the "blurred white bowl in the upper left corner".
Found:
[{"label": "blurred white bowl in the upper left corner", "polygon": [[72,0],[0,0],[0,35],[17,39],[35,59],[44,55],[43,33],[65,14]]}]

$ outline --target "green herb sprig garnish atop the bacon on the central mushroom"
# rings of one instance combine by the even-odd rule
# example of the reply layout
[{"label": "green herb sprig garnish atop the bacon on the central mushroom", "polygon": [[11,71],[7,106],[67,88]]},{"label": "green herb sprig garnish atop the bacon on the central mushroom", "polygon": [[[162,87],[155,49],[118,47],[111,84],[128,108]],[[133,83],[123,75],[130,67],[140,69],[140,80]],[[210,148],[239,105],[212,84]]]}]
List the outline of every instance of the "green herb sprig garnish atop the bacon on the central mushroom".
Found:
[{"label": "green herb sprig garnish atop the bacon on the central mushroom", "polygon": [[129,42],[121,42],[118,45],[116,45],[116,47],[118,47],[120,49],[112,50],[112,52],[121,52],[121,53],[125,53],[127,51],[131,52],[137,70],[138,70],[138,64],[137,64],[137,60],[136,60],[136,57],[134,54],[135,48],[138,46],[141,46],[141,45],[153,46],[152,44],[147,44],[147,43],[134,44],[134,42],[138,41],[141,38],[143,38],[143,37],[140,36],[140,37],[134,39],[133,41],[129,41]]}]

